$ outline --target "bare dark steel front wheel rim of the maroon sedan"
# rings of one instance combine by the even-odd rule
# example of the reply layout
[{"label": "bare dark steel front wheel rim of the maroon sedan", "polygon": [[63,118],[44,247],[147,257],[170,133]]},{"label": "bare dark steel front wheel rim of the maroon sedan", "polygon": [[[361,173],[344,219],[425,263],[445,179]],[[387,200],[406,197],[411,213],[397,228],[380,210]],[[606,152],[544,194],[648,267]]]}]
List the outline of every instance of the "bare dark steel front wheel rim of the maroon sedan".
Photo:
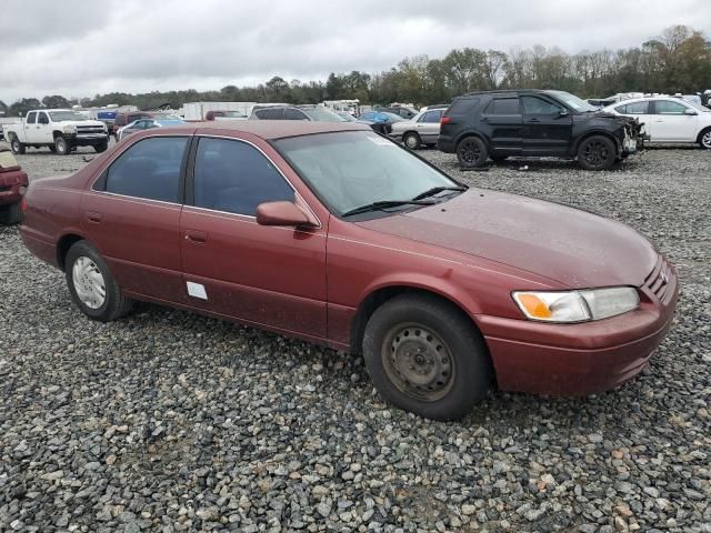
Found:
[{"label": "bare dark steel front wheel rim of the maroon sedan", "polygon": [[444,398],[454,384],[452,353],[441,336],[414,322],[385,334],[382,363],[391,383],[403,394],[424,402]]}]

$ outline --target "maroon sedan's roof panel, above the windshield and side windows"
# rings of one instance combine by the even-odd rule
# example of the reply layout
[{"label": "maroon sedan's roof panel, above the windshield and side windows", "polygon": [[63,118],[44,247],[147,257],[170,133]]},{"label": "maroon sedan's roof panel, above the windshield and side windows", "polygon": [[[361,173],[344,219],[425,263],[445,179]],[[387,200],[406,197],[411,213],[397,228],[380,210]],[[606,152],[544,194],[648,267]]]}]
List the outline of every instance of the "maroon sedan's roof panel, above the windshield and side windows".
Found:
[{"label": "maroon sedan's roof panel, above the windshield and side windows", "polygon": [[243,120],[237,122],[189,122],[166,128],[164,131],[219,131],[229,133],[251,133],[262,139],[283,139],[286,137],[311,135],[339,131],[372,131],[368,125],[356,122],[317,122],[302,120]]}]

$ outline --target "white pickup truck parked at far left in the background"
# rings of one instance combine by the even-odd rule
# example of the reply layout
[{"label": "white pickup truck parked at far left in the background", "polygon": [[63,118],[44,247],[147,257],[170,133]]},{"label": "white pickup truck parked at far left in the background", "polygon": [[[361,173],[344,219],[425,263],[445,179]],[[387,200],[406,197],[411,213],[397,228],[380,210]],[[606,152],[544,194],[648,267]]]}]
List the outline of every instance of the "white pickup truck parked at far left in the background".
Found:
[{"label": "white pickup truck parked at far left in the background", "polygon": [[60,155],[77,147],[93,147],[97,152],[109,148],[106,124],[71,109],[30,111],[22,122],[6,124],[2,132],[14,153],[24,153],[27,147],[48,147]]}]

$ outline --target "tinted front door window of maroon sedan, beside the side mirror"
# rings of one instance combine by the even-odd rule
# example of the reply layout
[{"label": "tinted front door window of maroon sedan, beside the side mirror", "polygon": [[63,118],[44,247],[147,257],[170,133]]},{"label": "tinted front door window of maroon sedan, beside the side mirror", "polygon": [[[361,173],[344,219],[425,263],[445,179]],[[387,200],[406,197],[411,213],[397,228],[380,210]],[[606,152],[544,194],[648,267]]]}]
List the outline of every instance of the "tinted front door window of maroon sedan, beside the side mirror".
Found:
[{"label": "tinted front door window of maroon sedan, beside the side mirror", "polygon": [[196,154],[194,204],[254,215],[263,202],[293,202],[291,185],[254,147],[227,139],[201,139]]}]

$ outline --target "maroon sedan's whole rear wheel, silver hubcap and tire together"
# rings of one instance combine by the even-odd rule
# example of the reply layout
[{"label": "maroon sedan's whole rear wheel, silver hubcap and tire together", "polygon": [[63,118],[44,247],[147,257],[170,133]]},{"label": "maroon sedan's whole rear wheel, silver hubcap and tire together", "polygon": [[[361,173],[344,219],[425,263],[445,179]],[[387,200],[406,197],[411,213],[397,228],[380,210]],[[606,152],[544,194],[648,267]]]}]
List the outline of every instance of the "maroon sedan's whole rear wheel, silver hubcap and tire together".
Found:
[{"label": "maroon sedan's whole rear wheel, silver hubcap and tire together", "polygon": [[109,322],[131,310],[132,300],[123,295],[107,262],[87,241],[67,252],[64,276],[72,300],[90,319]]}]

